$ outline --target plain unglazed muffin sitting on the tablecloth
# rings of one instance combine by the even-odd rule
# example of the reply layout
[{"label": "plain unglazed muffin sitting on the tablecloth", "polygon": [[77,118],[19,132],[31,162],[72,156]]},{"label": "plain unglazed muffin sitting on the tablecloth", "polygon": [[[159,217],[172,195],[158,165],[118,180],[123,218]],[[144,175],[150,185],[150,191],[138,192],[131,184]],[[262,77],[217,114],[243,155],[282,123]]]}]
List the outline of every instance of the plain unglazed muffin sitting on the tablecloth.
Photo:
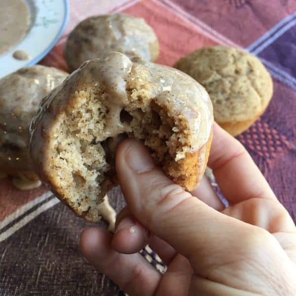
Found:
[{"label": "plain unglazed muffin sitting on the tablecloth", "polygon": [[272,97],[270,74],[258,58],[237,48],[201,48],[181,58],[174,67],[206,88],[215,121],[233,136],[245,131]]}]

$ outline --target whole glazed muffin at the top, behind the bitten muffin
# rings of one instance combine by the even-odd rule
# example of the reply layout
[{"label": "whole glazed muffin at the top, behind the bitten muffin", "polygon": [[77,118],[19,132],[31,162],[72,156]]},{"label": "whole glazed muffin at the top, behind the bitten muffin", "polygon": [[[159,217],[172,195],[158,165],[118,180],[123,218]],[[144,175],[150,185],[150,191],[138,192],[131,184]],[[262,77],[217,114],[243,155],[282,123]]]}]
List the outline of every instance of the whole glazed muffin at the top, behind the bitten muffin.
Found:
[{"label": "whole glazed muffin at the top, behind the bitten muffin", "polygon": [[84,61],[102,58],[110,51],[155,62],[159,45],[153,29],[143,18],[99,15],[83,20],[74,28],[64,47],[64,57],[69,69],[74,71]]}]

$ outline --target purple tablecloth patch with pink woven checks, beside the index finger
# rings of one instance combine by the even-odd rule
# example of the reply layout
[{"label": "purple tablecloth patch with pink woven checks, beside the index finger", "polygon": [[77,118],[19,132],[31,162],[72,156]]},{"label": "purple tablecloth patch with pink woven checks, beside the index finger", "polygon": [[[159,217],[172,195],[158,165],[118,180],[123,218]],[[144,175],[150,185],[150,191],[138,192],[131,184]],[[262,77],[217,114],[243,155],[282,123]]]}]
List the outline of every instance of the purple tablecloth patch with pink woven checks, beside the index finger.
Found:
[{"label": "purple tablecloth patch with pink woven checks, beside the index finger", "polygon": [[278,199],[296,221],[296,93],[273,80],[264,114],[237,139],[251,154]]}]

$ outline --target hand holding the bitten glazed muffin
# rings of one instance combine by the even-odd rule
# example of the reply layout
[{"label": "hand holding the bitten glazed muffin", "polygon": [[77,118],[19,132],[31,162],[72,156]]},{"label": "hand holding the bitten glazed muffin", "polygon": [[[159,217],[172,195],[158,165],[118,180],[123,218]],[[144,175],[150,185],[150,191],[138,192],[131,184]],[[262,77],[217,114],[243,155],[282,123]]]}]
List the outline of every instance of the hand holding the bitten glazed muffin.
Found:
[{"label": "hand holding the bitten glazed muffin", "polygon": [[[131,296],[296,295],[295,224],[245,148],[217,124],[208,166],[227,208],[206,178],[190,194],[141,143],[122,142],[116,172],[127,207],[114,236],[101,227],[81,233],[83,255]],[[164,275],[137,253],[148,243],[168,265]]]}]

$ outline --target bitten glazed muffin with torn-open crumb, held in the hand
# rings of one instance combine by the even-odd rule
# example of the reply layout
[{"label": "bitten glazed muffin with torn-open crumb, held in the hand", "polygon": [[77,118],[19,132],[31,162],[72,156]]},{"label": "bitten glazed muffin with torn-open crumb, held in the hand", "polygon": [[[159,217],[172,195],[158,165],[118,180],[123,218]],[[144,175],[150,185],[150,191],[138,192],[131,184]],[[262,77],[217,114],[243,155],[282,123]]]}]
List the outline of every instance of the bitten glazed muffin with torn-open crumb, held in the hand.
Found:
[{"label": "bitten glazed muffin with torn-open crumb, held in the hand", "polygon": [[30,155],[48,188],[95,222],[116,185],[119,141],[143,141],[164,172],[190,190],[204,173],[212,124],[211,100],[194,79],[111,52],[83,63],[43,99],[31,123]]}]

